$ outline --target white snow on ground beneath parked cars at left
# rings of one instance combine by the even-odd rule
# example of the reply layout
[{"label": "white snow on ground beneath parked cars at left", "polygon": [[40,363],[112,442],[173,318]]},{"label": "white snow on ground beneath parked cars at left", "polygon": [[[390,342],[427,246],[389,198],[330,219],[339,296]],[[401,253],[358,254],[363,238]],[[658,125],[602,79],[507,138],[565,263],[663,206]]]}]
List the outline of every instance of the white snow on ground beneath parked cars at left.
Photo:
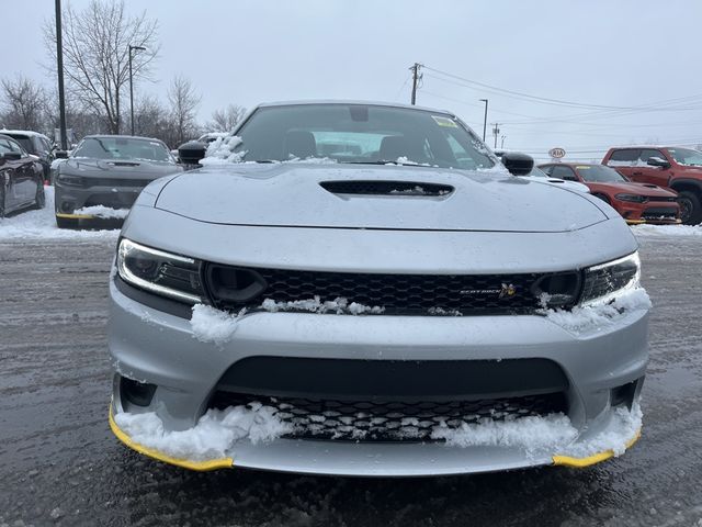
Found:
[{"label": "white snow on ground beneath parked cars at left", "polygon": [[0,242],[7,239],[117,239],[120,229],[73,231],[58,228],[54,218],[54,187],[45,187],[46,205],[0,218]]}]

